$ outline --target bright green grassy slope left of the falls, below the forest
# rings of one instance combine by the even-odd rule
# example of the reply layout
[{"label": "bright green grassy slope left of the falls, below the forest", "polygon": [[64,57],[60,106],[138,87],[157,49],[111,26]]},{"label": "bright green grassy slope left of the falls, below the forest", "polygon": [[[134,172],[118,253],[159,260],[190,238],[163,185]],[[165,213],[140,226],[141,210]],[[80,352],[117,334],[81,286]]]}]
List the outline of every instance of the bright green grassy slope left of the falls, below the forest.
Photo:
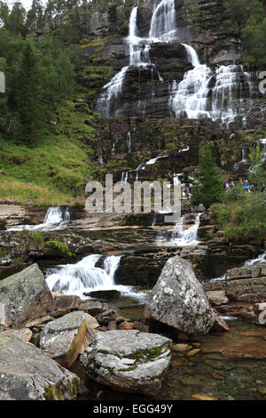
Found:
[{"label": "bright green grassy slope left of the falls, below the forest", "polygon": [[0,199],[23,204],[74,205],[84,202],[90,179],[90,146],[94,130],[85,125],[87,115],[72,102],[60,109],[54,133],[29,148],[8,141],[0,143]]}]

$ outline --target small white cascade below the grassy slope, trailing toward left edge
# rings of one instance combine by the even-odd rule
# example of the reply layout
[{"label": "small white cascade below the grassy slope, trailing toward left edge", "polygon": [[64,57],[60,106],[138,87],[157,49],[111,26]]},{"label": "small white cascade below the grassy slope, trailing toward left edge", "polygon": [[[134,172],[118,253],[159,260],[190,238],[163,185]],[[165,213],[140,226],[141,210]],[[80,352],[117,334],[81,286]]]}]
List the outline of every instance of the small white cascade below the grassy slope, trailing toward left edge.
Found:
[{"label": "small white cascade below the grassy slope, trailing toward left edge", "polygon": [[58,206],[50,207],[44,217],[43,223],[39,225],[18,225],[7,229],[8,231],[16,230],[55,230],[55,229],[64,229],[70,221],[70,213],[68,208],[66,208],[65,213]]}]

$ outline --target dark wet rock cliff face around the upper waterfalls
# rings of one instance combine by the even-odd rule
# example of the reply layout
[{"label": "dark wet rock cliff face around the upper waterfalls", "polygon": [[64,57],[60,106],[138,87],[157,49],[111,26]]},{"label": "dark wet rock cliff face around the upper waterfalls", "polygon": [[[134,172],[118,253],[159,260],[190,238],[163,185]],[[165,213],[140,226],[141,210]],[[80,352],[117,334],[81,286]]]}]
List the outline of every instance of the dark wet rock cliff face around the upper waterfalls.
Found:
[{"label": "dark wet rock cliff face around the upper waterfalls", "polygon": [[[156,4],[159,3],[158,0]],[[161,155],[170,157],[145,167],[139,173],[141,178],[153,175],[153,179],[170,179],[173,173],[193,171],[199,163],[199,149],[206,141],[215,141],[217,164],[232,171],[241,159],[241,149],[249,146],[242,141],[241,134],[234,141],[229,140],[231,133],[225,133],[217,122],[204,117],[198,120],[175,118],[170,109],[174,81],[181,83],[193,68],[184,44],[192,45],[200,62],[207,64],[214,74],[218,66],[238,64],[245,55],[240,38],[228,20],[223,0],[176,0],[175,7],[178,41],[150,44],[151,64],[140,67],[129,66],[126,37],[131,10],[124,7],[101,10],[97,6],[91,10],[90,36],[82,39],[86,67],[79,75],[79,83],[86,89],[86,101],[92,111],[98,111],[98,100],[105,84],[110,83],[121,68],[129,66],[115,98],[115,107],[111,103],[111,117],[94,117],[94,122],[88,121],[98,131],[98,144],[91,144],[96,169],[101,169],[103,174],[113,173],[117,181],[125,172],[129,172],[129,180],[134,180],[137,165]],[[149,36],[153,12],[153,0],[145,1],[138,8],[139,37]],[[241,76],[241,97],[244,98],[249,97],[249,84],[255,79],[251,72],[247,81],[244,80],[247,70],[251,68],[243,68]],[[230,74],[225,78],[227,76]],[[209,84],[214,86],[215,81],[212,76]],[[250,110],[252,107],[252,101],[246,101],[246,127],[262,122],[261,105],[254,106],[254,113]],[[243,127],[241,124],[243,116],[235,117],[231,131],[239,130]],[[189,152],[177,155],[179,149],[188,146]]]}]

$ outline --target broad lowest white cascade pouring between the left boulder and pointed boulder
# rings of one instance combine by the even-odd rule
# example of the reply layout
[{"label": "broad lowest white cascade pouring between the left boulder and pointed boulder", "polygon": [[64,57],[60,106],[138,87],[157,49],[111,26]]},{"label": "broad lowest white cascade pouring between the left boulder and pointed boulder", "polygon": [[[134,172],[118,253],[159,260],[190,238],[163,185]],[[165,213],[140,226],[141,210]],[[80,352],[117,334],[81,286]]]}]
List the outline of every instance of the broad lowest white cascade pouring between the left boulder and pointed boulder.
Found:
[{"label": "broad lowest white cascade pouring between the left boulder and pointed boulder", "polygon": [[58,271],[46,277],[51,292],[76,294],[82,299],[83,293],[98,290],[118,290],[123,295],[142,299],[143,293],[134,293],[133,286],[115,285],[115,272],[121,261],[121,255],[106,257],[103,269],[95,267],[101,259],[100,254],[91,254],[75,264],[59,266]]}]

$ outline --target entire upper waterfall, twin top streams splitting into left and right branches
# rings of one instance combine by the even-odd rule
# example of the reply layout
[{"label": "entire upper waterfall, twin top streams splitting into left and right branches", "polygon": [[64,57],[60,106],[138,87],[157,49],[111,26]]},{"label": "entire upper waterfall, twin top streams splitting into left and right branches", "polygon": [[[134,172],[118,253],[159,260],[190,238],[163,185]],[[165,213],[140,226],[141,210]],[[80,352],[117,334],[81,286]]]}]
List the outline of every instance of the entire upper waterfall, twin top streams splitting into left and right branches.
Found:
[{"label": "entire upper waterfall, twin top streams splitting into left and right branches", "polygon": [[[150,66],[153,79],[155,66],[149,57],[151,44],[176,40],[178,40],[178,28],[176,28],[175,0],[162,0],[154,6],[148,38],[141,38],[138,35],[137,7],[134,7],[129,19],[129,36],[125,39],[126,44],[129,45],[129,66],[121,68],[111,82],[105,85],[105,92],[98,100],[98,111],[106,117],[117,115],[120,111],[122,87],[130,66],[138,67],[139,70]],[[239,121],[242,118],[242,125],[245,126],[246,117],[244,109],[241,109],[241,103],[245,97],[251,99],[257,95],[256,82],[252,74],[244,71],[240,65],[221,66],[212,70],[205,64],[200,64],[198,54],[191,45],[183,45],[187,58],[194,68],[185,73],[181,83],[173,82],[168,101],[170,113],[176,117],[190,119],[208,117],[226,128],[230,128],[236,117],[239,117]],[[158,78],[163,82],[159,73]],[[145,101],[139,98],[138,114],[145,114]]]}]

